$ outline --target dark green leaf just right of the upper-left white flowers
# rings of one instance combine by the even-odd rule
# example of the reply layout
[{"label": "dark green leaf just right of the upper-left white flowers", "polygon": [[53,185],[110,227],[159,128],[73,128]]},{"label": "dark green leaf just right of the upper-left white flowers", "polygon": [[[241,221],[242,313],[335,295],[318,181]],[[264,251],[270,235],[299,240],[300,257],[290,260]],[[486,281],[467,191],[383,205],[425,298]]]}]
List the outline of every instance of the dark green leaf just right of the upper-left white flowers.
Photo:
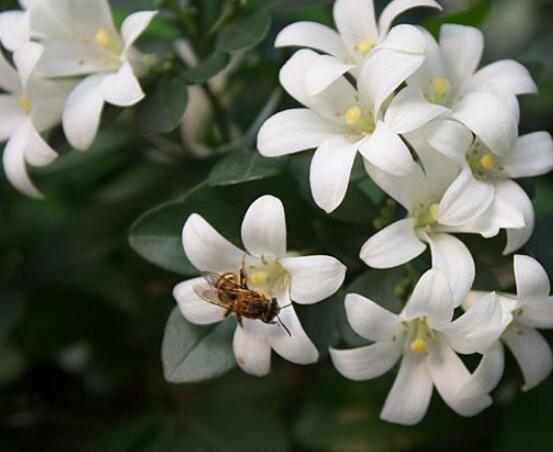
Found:
[{"label": "dark green leaf just right of the upper-left white flowers", "polygon": [[186,80],[181,76],[163,77],[138,104],[138,126],[147,132],[172,132],[181,124],[187,104]]}]

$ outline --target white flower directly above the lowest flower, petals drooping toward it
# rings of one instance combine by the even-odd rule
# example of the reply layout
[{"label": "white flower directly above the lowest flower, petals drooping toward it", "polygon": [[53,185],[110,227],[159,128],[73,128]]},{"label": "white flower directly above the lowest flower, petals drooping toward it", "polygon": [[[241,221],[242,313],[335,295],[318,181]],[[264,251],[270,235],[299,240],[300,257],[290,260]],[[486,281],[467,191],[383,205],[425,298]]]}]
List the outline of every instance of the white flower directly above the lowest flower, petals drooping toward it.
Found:
[{"label": "white flower directly above the lowest flower, petals drooping toward it", "polygon": [[360,257],[371,267],[391,268],[419,256],[428,244],[432,266],[447,275],[460,304],[474,279],[474,261],[466,246],[449,233],[492,237],[500,228],[524,227],[524,218],[506,202],[484,203],[493,187],[475,184],[469,169],[459,173],[454,162],[429,147],[420,146],[417,153],[425,170],[416,165],[404,177],[366,165],[375,183],[407,210],[407,217],[373,235]]}]

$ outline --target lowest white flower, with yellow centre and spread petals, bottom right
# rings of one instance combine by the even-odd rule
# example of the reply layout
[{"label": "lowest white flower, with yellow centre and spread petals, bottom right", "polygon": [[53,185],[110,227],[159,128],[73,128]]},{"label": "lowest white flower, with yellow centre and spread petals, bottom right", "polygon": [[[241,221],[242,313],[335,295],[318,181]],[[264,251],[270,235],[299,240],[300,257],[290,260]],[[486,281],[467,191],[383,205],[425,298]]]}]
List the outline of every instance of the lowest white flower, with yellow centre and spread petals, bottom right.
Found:
[{"label": "lowest white flower, with yellow centre and spread petals, bottom right", "polygon": [[352,350],[330,350],[336,369],[353,380],[388,372],[401,360],[381,418],[416,424],[426,413],[433,386],[457,413],[472,416],[492,403],[484,392],[460,397],[471,375],[456,352],[484,353],[506,322],[495,297],[453,321],[454,302],[445,275],[429,270],[417,283],[401,314],[393,314],[360,295],[346,297],[354,331],[374,344]]}]

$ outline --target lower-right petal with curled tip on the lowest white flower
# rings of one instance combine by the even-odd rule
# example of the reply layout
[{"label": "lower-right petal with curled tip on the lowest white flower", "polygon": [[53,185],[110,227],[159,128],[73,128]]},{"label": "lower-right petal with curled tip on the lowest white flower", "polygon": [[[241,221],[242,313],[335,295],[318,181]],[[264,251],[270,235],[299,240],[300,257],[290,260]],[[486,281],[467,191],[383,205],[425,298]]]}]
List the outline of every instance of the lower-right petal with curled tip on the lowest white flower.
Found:
[{"label": "lower-right petal with curled tip on the lowest white flower", "polygon": [[429,342],[428,346],[432,380],[444,402],[453,411],[461,416],[474,416],[492,404],[492,399],[486,394],[468,399],[461,397],[461,388],[467,384],[471,375],[442,337]]}]

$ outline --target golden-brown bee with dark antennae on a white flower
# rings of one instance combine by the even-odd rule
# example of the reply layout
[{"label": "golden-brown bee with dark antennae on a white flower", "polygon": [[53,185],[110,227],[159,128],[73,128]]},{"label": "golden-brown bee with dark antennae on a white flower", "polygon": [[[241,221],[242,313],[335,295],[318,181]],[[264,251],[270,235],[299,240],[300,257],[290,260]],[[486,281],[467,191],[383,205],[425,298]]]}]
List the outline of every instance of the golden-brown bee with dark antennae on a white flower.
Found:
[{"label": "golden-brown bee with dark antennae on a white flower", "polygon": [[224,308],[225,318],[236,315],[240,326],[242,318],[261,320],[268,324],[276,324],[278,321],[291,336],[290,330],[278,316],[281,309],[290,305],[281,308],[276,298],[269,299],[264,293],[250,289],[244,261],[239,274],[202,272],[202,276],[206,283],[194,286],[194,292],[208,303]]}]

